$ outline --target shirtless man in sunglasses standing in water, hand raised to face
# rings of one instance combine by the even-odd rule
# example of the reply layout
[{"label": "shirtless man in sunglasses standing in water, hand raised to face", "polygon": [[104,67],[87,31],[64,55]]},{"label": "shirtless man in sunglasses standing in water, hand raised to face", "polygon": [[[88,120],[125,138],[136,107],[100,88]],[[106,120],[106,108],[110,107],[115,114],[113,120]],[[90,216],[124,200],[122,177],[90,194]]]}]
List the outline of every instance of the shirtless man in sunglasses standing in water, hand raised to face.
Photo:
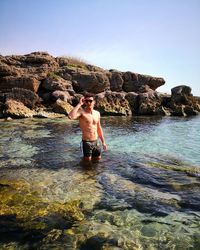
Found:
[{"label": "shirtless man in sunglasses standing in water, hand raised to face", "polygon": [[[94,110],[94,104],[93,95],[86,94],[68,115],[69,119],[79,119],[79,126],[82,131],[83,155],[84,160],[87,161],[92,158],[101,159],[101,149],[97,145],[98,137],[102,142],[103,149],[107,150],[100,123],[100,113]],[[83,105],[85,105],[84,108]]]}]

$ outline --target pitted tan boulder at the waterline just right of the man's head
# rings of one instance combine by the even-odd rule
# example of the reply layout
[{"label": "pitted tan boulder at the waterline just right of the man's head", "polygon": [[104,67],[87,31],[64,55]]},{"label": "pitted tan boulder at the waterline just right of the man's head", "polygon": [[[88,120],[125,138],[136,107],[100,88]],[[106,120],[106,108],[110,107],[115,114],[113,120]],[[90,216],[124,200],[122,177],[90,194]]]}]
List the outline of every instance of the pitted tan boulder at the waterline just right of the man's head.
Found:
[{"label": "pitted tan boulder at the waterline just right of the man's head", "polygon": [[107,91],[96,95],[96,109],[102,115],[131,115],[131,107],[125,93]]}]

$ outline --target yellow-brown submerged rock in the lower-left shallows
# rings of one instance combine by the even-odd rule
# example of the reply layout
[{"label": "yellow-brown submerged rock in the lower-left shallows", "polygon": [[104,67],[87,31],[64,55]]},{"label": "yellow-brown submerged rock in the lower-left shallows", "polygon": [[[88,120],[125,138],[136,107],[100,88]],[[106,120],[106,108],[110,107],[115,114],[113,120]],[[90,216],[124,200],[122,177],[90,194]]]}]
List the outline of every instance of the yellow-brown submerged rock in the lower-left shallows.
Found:
[{"label": "yellow-brown submerged rock in the lower-left shallows", "polygon": [[[11,217],[13,222],[9,219]],[[84,215],[77,200],[48,202],[29,183],[0,180],[0,218],[4,218],[0,223],[0,233],[8,230],[7,223],[9,230],[14,230],[17,223],[23,229],[24,237],[29,230],[39,230],[50,238],[54,227],[70,228],[75,221],[82,221]]]}]

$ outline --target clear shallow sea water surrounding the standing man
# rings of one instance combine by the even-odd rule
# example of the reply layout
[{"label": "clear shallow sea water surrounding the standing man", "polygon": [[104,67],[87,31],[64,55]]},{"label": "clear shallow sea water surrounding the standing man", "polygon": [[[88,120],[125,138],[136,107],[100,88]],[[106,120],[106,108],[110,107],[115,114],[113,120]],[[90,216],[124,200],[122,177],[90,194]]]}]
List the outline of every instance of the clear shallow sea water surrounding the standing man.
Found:
[{"label": "clear shallow sea water surrounding the standing man", "polygon": [[0,123],[0,249],[200,249],[200,117],[102,117],[85,164],[77,121]]}]

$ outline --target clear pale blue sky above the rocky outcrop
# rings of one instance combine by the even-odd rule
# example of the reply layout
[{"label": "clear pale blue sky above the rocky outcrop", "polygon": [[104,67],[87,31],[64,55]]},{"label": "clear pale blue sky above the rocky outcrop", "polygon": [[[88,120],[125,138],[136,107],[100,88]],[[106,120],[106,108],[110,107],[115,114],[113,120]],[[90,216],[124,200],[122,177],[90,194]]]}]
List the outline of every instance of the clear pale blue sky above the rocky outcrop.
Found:
[{"label": "clear pale blue sky above the rocky outcrop", "polygon": [[47,51],[200,96],[199,0],[0,0],[0,53]]}]

